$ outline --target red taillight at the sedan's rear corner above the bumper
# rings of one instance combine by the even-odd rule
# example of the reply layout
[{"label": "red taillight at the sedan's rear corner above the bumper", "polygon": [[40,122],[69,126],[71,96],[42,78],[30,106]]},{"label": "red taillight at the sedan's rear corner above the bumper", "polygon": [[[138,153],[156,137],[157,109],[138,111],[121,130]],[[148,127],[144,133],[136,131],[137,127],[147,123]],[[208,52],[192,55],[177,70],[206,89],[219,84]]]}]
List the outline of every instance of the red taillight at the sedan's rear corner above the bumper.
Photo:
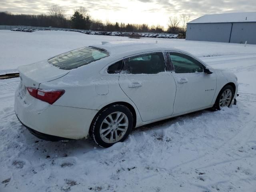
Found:
[{"label": "red taillight at the sedan's rear corner above the bumper", "polygon": [[27,90],[31,96],[39,100],[53,104],[58,100],[64,93],[65,90],[47,90],[47,89],[36,89],[27,87]]}]

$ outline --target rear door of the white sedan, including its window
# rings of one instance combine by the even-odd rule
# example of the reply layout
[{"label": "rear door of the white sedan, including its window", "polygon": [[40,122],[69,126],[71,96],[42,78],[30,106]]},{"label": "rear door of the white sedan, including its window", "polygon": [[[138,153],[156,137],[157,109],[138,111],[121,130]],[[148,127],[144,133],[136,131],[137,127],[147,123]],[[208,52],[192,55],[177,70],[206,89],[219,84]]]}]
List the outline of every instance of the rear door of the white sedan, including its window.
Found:
[{"label": "rear door of the white sedan, including its window", "polygon": [[176,84],[172,72],[166,70],[162,52],[125,58],[119,84],[138,108],[142,121],[172,115]]}]

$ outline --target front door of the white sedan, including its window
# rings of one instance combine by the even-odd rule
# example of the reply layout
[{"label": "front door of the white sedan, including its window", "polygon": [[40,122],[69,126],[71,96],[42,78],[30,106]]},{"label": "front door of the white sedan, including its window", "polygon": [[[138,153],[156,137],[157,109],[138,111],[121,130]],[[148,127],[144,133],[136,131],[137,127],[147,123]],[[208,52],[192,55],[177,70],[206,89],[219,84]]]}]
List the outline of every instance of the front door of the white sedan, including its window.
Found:
[{"label": "front door of the white sedan, including its window", "polygon": [[216,74],[204,73],[204,65],[182,52],[169,52],[177,85],[174,114],[211,105],[216,91]]}]

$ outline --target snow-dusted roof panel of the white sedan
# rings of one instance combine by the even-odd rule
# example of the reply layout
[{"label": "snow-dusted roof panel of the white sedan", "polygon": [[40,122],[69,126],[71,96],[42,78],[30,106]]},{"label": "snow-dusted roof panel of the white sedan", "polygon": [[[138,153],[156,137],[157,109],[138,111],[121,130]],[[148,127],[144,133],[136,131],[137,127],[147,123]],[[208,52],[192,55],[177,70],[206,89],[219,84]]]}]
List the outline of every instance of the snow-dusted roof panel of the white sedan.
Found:
[{"label": "snow-dusted roof panel of the white sedan", "polygon": [[110,56],[117,57],[126,57],[133,54],[139,54],[143,52],[151,52],[151,51],[180,51],[171,47],[163,47],[157,43],[147,43],[140,41],[112,41],[112,42],[102,42],[102,44],[93,45],[97,48],[102,48],[110,52]]}]

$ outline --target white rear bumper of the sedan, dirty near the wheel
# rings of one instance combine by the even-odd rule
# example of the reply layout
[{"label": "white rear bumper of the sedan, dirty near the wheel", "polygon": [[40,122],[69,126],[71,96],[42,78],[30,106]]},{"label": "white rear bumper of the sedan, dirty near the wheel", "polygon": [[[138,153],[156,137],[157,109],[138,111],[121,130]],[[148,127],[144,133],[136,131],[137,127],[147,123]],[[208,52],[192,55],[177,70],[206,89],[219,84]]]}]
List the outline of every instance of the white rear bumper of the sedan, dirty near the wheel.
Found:
[{"label": "white rear bumper of the sedan, dirty near the wheel", "polygon": [[[36,102],[36,103],[35,103]],[[20,122],[32,134],[44,140],[81,139],[88,136],[90,124],[98,110],[48,105],[40,110],[42,101],[34,101],[30,106],[22,104],[15,96],[14,109]],[[45,104],[45,102],[43,102]]]}]

